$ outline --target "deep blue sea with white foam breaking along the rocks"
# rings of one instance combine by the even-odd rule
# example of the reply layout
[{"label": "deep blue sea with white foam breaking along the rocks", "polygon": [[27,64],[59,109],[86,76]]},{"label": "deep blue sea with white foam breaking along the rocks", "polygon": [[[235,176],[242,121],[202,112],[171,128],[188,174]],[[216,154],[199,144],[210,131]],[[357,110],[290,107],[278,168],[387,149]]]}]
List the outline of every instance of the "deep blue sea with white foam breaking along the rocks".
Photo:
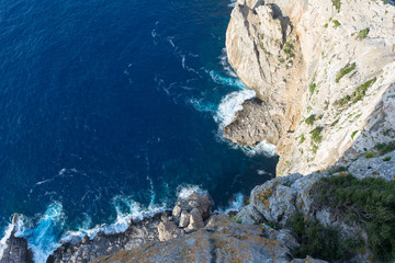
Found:
[{"label": "deep blue sea with white foam breaking along the rocks", "polygon": [[170,207],[193,185],[221,209],[268,180],[275,158],[221,135],[251,96],[224,54],[230,11],[228,0],[0,0],[0,230],[22,214],[40,247],[43,231],[56,241]]}]

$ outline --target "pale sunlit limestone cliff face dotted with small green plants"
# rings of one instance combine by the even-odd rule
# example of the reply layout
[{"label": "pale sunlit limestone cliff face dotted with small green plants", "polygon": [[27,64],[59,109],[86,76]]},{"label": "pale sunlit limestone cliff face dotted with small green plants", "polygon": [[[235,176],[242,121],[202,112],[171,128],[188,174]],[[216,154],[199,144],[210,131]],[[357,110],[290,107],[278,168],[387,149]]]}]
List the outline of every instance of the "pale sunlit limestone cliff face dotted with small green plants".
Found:
[{"label": "pale sunlit limestone cliff face dotted with small green plants", "polygon": [[226,36],[229,62],[260,100],[246,102],[225,135],[276,145],[278,175],[394,140],[393,3],[239,0]]}]

